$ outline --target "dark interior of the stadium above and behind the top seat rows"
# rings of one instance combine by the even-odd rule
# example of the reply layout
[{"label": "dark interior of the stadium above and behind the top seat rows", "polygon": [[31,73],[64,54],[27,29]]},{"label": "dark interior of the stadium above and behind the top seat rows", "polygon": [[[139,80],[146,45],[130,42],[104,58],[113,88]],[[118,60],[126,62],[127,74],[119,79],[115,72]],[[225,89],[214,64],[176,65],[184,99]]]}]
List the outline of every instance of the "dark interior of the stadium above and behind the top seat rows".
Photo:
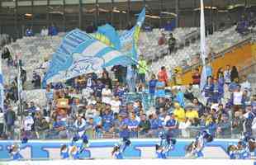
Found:
[{"label": "dark interior of the stadium above and behind the top seat rows", "polygon": [[[199,26],[197,0],[1,0],[0,33],[19,38],[28,26],[38,33],[51,23],[59,31],[76,27],[84,30],[92,22],[95,26],[111,23],[125,29],[129,21],[135,22],[135,14],[143,6],[149,15],[146,26],[161,27],[167,21],[175,21],[180,27]],[[235,24],[240,15],[255,11],[256,1],[206,0],[205,7],[206,26],[216,31]]]}]

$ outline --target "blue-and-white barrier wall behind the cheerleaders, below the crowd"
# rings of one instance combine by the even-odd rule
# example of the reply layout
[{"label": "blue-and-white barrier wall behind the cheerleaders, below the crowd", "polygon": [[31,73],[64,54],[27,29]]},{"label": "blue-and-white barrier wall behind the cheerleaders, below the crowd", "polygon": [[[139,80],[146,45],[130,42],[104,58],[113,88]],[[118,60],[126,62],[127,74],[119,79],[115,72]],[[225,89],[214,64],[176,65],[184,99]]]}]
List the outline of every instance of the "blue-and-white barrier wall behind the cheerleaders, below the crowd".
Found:
[{"label": "blue-and-white barrier wall behind the cheerleaders, below the crowd", "polygon": [[[154,158],[154,145],[159,143],[159,139],[131,139],[132,145],[126,149],[125,158]],[[190,144],[190,139],[178,139],[170,157],[181,158],[185,156],[185,148]],[[235,139],[216,139],[205,148],[205,155],[209,157],[227,158],[226,148],[230,143],[236,143]],[[17,141],[0,142],[0,159],[10,158],[7,147],[12,144],[19,144]],[[111,149],[118,143],[115,139],[91,140],[89,148],[85,150],[83,158],[111,158]],[[59,148],[62,144],[69,144],[69,141],[40,141],[31,140],[27,144],[21,144],[21,155],[26,159],[58,159]],[[78,145],[80,142],[77,143]]]}]

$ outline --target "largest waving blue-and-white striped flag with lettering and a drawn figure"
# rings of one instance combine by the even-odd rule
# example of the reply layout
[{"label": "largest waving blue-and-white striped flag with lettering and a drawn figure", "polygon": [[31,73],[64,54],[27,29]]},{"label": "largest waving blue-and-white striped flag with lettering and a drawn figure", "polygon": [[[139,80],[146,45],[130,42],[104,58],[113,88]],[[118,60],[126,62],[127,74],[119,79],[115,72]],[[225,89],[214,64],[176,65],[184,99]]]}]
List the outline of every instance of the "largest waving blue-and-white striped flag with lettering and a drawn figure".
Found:
[{"label": "largest waving blue-and-white striped flag with lettering and a drawn figure", "polygon": [[76,29],[64,37],[59,49],[53,55],[43,85],[45,87],[50,82],[63,82],[84,73],[126,64],[126,61],[128,57],[125,54]]}]

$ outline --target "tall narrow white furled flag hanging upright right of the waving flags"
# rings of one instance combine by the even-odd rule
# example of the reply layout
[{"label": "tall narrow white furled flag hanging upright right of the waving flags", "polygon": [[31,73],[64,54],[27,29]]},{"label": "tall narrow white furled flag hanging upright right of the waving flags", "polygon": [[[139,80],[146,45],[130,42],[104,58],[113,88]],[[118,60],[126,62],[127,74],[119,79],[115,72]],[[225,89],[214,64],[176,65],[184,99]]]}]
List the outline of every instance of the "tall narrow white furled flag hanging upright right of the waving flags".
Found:
[{"label": "tall narrow white furled flag hanging upright right of the waving flags", "polygon": [[202,92],[203,87],[206,85],[207,75],[206,75],[206,25],[205,25],[205,14],[204,14],[204,4],[201,0],[201,16],[200,16],[200,49],[201,49],[201,80],[200,80],[200,90]]}]

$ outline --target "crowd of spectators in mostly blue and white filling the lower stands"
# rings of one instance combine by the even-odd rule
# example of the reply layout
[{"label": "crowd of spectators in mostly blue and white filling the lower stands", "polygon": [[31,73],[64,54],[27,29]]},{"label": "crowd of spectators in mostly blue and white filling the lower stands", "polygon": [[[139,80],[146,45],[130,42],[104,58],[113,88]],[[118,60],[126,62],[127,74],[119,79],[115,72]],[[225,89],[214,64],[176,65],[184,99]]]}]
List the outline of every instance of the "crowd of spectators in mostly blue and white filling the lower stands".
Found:
[{"label": "crowd of spectators in mostly blue and white filling the lower stands", "polygon": [[[181,138],[192,138],[202,129],[210,130],[217,138],[254,135],[256,95],[248,80],[239,78],[235,67],[230,69],[227,65],[214,75],[209,64],[202,91],[198,68],[187,87],[169,87],[164,66],[147,81],[145,75],[149,72],[142,57],[133,68],[130,76],[129,68],[115,66],[111,69],[115,78],[103,69],[101,75],[90,73],[65,83],[49,84],[45,105],[24,101],[23,111],[9,104],[17,101],[17,82],[13,82],[6,88],[6,108],[0,113],[2,139],[18,139],[22,135],[30,139],[66,139],[81,129],[90,139],[127,134],[132,138],[155,138],[160,130]],[[23,81],[25,74],[23,71]],[[36,87],[40,87],[40,80]],[[140,92],[149,98],[149,108],[141,99],[128,99]]]}]

